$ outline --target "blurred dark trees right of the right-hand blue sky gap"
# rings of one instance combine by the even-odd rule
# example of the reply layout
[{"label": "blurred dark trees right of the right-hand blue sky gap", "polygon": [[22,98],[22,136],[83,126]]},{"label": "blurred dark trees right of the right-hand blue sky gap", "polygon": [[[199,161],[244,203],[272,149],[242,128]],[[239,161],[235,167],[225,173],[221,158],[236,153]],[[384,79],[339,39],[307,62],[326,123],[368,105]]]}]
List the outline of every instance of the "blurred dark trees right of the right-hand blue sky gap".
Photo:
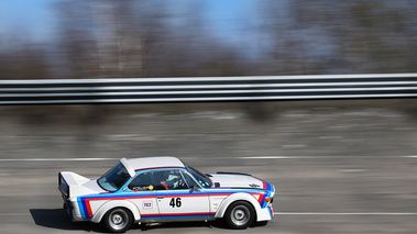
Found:
[{"label": "blurred dark trees right of the right-hand blue sky gap", "polygon": [[264,1],[266,74],[416,71],[417,3]]}]

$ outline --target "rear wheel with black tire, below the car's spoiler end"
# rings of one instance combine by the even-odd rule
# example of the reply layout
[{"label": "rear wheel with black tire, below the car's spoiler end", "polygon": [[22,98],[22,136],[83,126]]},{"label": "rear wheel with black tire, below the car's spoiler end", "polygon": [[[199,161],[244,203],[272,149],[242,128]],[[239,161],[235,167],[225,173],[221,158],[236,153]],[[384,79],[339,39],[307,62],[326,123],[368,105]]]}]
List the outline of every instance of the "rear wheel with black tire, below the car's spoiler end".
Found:
[{"label": "rear wheel with black tire, below the car's spoiler end", "polygon": [[106,213],[101,222],[109,232],[124,233],[132,226],[133,215],[128,209],[114,208]]}]

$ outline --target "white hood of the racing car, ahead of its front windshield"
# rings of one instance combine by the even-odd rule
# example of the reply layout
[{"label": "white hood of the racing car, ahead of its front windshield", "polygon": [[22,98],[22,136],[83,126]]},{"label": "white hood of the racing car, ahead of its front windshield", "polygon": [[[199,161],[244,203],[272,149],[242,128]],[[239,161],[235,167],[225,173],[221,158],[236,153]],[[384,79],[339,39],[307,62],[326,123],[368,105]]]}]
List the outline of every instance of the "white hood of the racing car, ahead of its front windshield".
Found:
[{"label": "white hood of the racing car, ahead of its front windshield", "polygon": [[246,174],[217,172],[208,174],[211,181],[220,188],[251,188],[272,190],[273,186],[266,181]]}]

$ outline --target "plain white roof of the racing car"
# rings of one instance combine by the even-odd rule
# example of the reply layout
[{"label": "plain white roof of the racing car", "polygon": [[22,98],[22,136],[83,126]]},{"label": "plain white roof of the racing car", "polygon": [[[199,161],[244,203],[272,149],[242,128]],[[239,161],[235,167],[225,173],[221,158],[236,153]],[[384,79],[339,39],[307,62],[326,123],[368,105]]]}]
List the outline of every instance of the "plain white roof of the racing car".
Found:
[{"label": "plain white roof of the racing car", "polygon": [[129,166],[134,170],[158,168],[158,167],[185,167],[183,161],[176,157],[142,157],[127,159]]}]

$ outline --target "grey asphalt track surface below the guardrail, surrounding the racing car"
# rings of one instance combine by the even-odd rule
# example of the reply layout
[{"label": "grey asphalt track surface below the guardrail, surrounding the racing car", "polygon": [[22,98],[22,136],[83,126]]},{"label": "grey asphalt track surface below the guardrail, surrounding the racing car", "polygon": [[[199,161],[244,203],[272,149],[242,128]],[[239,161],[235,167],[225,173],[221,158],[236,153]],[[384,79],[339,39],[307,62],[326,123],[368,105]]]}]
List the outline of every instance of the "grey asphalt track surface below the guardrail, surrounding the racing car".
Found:
[{"label": "grey asphalt track surface below the guardrail, surrounding the racing car", "polygon": [[58,171],[98,177],[120,157],[163,155],[205,172],[249,172],[274,183],[275,219],[244,231],[200,222],[135,225],[128,233],[417,232],[414,112],[266,107],[271,113],[253,116],[245,108],[185,105],[105,108],[111,114],[100,121],[68,116],[74,110],[0,110],[0,233],[105,232],[69,221]]}]

